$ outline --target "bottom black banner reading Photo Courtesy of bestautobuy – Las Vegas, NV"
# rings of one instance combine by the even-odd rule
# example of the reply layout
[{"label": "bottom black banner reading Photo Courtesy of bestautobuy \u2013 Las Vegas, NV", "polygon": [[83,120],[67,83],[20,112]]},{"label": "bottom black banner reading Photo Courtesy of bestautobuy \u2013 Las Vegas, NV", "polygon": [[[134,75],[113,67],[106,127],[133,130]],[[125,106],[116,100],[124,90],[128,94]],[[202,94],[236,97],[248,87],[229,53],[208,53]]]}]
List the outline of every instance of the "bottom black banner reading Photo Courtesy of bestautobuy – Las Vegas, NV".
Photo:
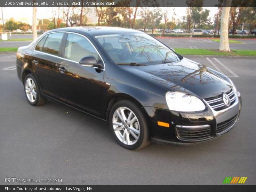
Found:
[{"label": "bottom black banner reading Photo Courtesy of bestautobuy \u2013 Las Vegas, NV", "polygon": [[175,192],[227,192],[227,191],[236,191],[236,192],[245,192],[245,191],[255,191],[255,186],[249,185],[223,185],[223,186],[25,186],[25,185],[14,185],[14,186],[1,186],[0,191],[12,191],[12,192],[50,192],[50,191],[60,191],[60,192],[81,192],[81,191],[93,191],[93,192],[161,192],[161,191],[175,191]]}]

